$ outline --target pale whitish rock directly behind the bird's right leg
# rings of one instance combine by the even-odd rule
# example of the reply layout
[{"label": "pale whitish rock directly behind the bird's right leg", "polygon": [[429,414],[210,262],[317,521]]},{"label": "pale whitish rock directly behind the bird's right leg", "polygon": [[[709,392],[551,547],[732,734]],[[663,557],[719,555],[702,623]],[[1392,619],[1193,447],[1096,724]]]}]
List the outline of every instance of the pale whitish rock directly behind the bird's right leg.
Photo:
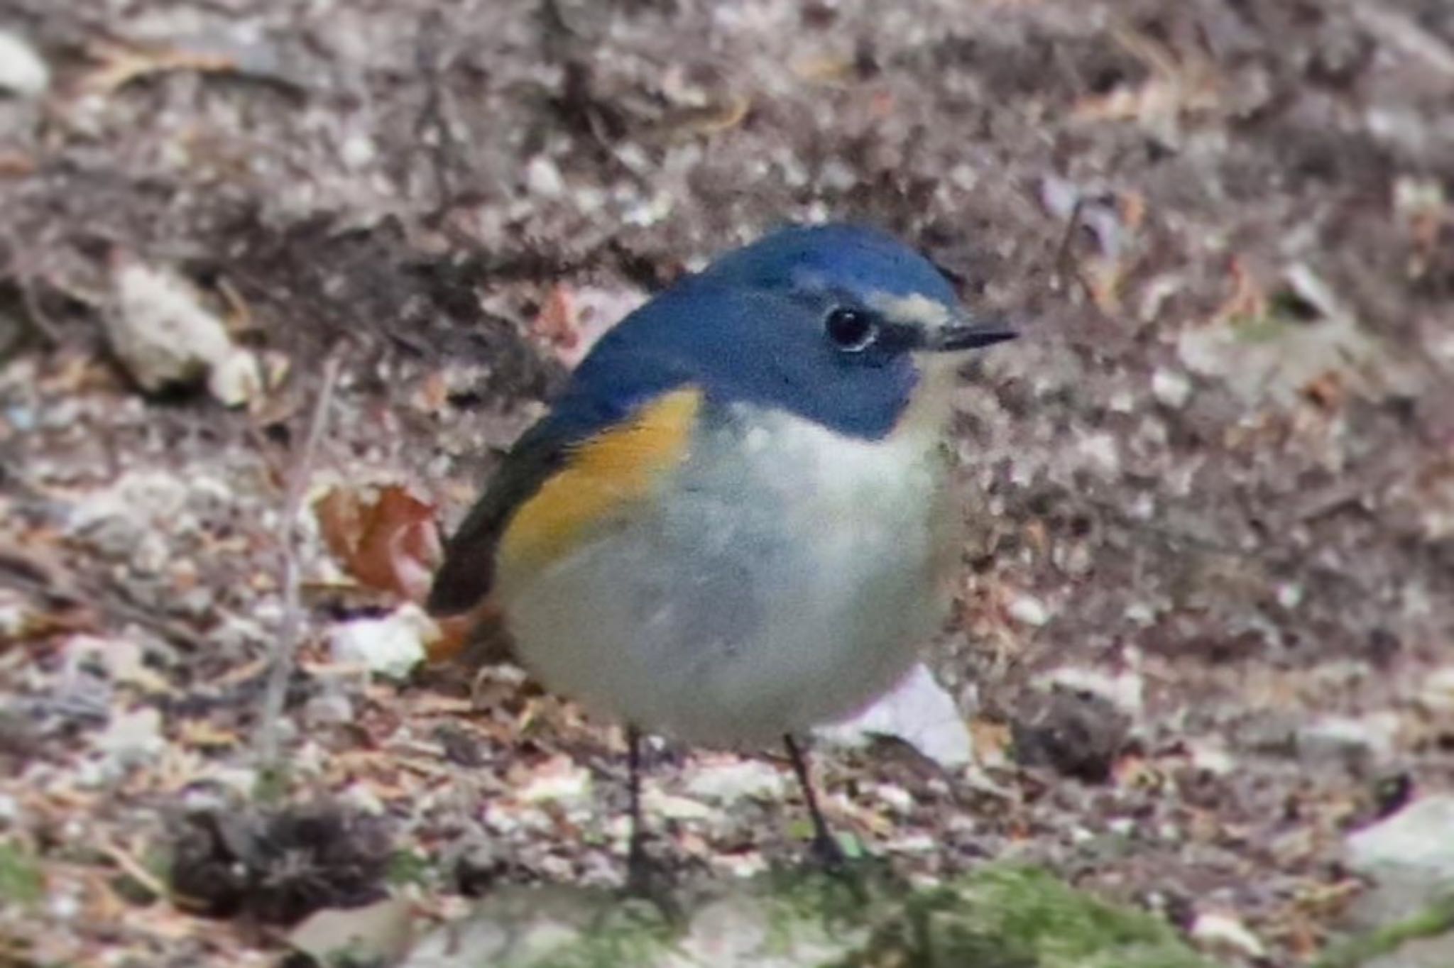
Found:
[{"label": "pale whitish rock directly behind the bird's right leg", "polygon": [[974,740],[958,705],[923,664],[853,719],[816,733],[843,746],[862,746],[875,735],[894,737],[947,769],[974,759]]}]

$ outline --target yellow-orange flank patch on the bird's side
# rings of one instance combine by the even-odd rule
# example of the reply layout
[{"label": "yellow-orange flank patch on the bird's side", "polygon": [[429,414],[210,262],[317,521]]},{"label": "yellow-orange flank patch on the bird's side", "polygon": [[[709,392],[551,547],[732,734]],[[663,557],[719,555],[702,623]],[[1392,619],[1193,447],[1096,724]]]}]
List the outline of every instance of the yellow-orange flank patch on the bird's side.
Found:
[{"label": "yellow-orange flank patch on the bird's side", "polygon": [[646,497],[660,474],[686,456],[701,404],[699,390],[669,392],[571,448],[566,467],[515,512],[500,539],[500,564],[547,564],[614,512]]}]

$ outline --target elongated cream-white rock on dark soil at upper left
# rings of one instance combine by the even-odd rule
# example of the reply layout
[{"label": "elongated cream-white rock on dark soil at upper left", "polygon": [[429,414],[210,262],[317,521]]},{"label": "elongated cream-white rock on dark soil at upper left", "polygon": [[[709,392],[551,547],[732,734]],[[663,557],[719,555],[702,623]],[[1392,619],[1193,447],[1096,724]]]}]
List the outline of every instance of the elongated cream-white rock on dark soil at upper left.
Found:
[{"label": "elongated cream-white rock on dark soil at upper left", "polygon": [[262,390],[257,359],[233,344],[222,320],[179,276],[129,256],[112,266],[115,299],[103,314],[106,336],[126,372],[147,392],[206,381],[236,407]]}]

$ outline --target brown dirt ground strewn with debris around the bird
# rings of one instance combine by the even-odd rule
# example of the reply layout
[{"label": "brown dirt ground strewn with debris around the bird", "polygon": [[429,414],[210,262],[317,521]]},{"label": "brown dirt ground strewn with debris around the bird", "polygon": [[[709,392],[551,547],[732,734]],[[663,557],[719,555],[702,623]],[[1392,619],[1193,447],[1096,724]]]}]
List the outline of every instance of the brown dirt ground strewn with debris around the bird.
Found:
[{"label": "brown dirt ground strewn with debris around the bird", "polygon": [[[1345,834],[1454,788],[1444,0],[0,0],[0,31],[49,68],[0,99],[0,882],[44,882],[0,962],[272,964],[385,884],[448,917],[614,882],[616,734],[337,661],[410,583],[310,525],[273,795],[329,805],[254,839],[348,827],[314,859],[346,871],[164,897],[179,856],[236,868],[326,360],[310,500],[403,485],[448,526],[602,320],[790,219],[888,227],[1024,327],[963,392],[932,660],[1000,792],[826,753],[839,824],[919,875],[1016,856],[1226,914],[1282,965],[1361,891]],[[128,269],[262,363],[244,406],[138,385]],[[678,863],[798,850],[792,794],[688,808],[730,757],[659,759]]]}]

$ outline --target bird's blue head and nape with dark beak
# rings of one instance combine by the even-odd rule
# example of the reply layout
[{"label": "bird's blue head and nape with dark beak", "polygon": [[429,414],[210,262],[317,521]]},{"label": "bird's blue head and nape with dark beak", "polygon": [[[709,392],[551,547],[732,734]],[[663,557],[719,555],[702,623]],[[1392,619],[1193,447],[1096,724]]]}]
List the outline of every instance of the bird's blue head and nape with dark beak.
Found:
[{"label": "bird's blue head and nape with dark beak", "polygon": [[576,372],[561,407],[586,422],[692,384],[839,433],[885,436],[955,350],[1011,339],[960,305],[935,266],[853,225],[784,228],[631,314]]}]

